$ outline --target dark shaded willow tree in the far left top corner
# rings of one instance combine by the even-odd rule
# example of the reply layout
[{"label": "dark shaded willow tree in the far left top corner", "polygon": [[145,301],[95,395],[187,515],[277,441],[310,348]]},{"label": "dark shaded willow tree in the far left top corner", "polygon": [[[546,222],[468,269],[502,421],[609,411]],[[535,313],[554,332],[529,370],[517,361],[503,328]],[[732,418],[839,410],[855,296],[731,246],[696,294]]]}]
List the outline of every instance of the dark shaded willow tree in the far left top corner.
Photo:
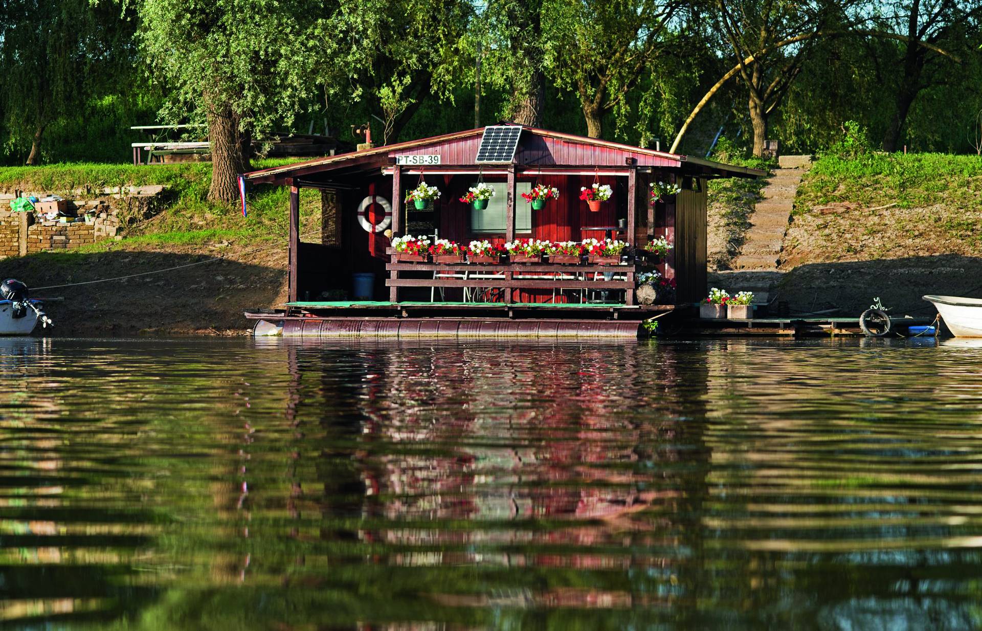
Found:
[{"label": "dark shaded willow tree in the far left top corner", "polygon": [[128,81],[133,31],[88,0],[0,3],[0,127],[15,151],[29,145],[27,164],[40,162],[48,127]]}]

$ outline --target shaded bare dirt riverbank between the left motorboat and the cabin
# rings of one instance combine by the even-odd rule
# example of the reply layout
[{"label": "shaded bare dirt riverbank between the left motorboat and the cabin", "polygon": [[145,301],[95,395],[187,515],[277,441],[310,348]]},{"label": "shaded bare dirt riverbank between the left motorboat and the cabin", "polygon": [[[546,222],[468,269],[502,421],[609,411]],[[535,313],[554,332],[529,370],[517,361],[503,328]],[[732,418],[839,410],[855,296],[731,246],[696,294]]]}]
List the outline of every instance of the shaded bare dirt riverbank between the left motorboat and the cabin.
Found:
[{"label": "shaded bare dirt riverbank between the left motorboat and the cabin", "polygon": [[[102,279],[155,272],[133,278]],[[282,242],[128,245],[109,251],[58,252],[0,262],[4,278],[27,283],[46,304],[53,335],[245,335],[243,312],[287,299]],[[75,285],[81,284],[81,285]],[[70,285],[70,287],[51,286]]]}]

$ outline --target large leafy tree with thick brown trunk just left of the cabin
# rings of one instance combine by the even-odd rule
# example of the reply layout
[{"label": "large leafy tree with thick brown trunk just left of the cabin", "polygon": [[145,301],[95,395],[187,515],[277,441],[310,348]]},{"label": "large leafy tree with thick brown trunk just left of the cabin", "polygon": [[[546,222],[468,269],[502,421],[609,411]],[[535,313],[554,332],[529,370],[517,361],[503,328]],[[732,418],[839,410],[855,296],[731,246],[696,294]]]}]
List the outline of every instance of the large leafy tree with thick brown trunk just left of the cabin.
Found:
[{"label": "large leafy tree with thick brown trunk just left of the cabin", "polygon": [[339,59],[335,6],[313,0],[142,0],[140,44],[170,94],[162,115],[203,117],[211,144],[208,198],[232,202],[250,140],[289,128],[319,90],[320,64]]}]

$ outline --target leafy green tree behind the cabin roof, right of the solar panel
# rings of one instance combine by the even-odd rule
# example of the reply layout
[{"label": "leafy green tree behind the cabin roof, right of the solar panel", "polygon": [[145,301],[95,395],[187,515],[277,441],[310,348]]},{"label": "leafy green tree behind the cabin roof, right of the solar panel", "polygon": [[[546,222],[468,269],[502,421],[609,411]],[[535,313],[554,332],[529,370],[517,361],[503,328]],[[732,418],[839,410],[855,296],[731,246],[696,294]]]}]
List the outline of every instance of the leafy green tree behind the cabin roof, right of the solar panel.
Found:
[{"label": "leafy green tree behind the cabin roof, right of the solar panel", "polygon": [[627,95],[674,40],[671,24],[687,3],[676,0],[545,0],[546,67],[573,89],[587,134],[625,112]]}]

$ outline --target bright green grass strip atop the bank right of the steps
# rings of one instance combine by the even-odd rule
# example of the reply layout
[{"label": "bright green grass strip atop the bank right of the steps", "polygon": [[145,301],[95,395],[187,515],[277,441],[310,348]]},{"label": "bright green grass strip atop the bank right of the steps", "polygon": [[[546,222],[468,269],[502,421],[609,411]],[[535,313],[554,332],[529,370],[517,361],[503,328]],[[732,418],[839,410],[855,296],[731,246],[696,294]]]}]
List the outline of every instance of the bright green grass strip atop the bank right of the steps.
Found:
[{"label": "bright green grass strip atop the bank right of the steps", "polygon": [[798,188],[795,212],[836,202],[900,208],[982,206],[982,158],[942,153],[868,153],[819,158]]}]

